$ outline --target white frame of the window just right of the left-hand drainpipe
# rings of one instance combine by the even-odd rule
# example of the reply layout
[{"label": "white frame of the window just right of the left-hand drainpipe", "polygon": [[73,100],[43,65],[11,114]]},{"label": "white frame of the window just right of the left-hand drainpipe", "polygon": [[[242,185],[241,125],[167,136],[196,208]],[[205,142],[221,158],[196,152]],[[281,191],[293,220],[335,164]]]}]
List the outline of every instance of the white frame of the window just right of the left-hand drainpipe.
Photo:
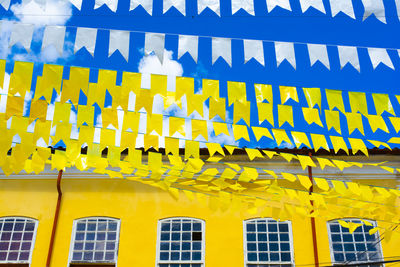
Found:
[{"label": "white frame of the window just right of the left-hand drainpipe", "polygon": [[[115,256],[114,256],[114,261],[91,261],[91,262],[85,262],[85,261],[80,261],[80,262],[74,262],[72,261],[72,256],[74,252],[74,245],[75,245],[75,236],[76,236],[76,227],[77,223],[80,222],[81,220],[88,220],[88,219],[105,219],[105,220],[112,220],[117,223],[117,236],[116,236],[116,250],[115,250]],[[120,229],[121,229],[121,220],[118,218],[114,217],[102,217],[102,216],[92,216],[92,217],[83,217],[79,219],[75,219],[73,221],[72,225],[72,233],[71,233],[71,244],[69,248],[69,255],[68,255],[68,264],[67,267],[69,267],[71,264],[114,264],[115,267],[118,266],[118,251],[119,251],[119,239],[120,239]]]}]

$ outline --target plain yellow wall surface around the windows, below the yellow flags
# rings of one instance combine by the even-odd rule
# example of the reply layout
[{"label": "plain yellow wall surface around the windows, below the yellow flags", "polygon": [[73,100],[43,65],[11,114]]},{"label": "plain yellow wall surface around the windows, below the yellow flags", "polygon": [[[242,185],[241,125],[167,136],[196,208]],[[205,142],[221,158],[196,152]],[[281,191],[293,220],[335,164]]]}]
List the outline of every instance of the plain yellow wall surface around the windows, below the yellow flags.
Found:
[{"label": "plain yellow wall surface around the windows, below the yellow flags", "polygon": [[[212,212],[198,202],[148,185],[118,179],[64,179],[63,201],[56,233],[53,267],[67,266],[73,220],[89,216],[121,219],[118,267],[155,266],[157,222],[168,217],[195,217],[206,223],[206,266],[243,266],[243,220],[239,212]],[[1,180],[0,217],[27,216],[39,220],[32,267],[45,266],[57,201],[55,180]],[[297,265],[314,262],[309,218],[292,221]],[[330,264],[326,221],[317,219],[319,259]],[[398,256],[400,236],[383,242],[385,257]]]}]

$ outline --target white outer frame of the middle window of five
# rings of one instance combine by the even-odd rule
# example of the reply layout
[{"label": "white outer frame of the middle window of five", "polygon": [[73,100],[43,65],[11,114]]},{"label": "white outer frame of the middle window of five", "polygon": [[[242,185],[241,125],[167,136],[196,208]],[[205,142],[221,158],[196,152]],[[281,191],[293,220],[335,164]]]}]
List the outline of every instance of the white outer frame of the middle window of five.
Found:
[{"label": "white outer frame of the middle window of five", "polygon": [[[201,261],[160,261],[160,244],[161,244],[161,224],[169,220],[194,220],[201,223]],[[171,240],[172,241],[172,240]],[[193,241],[190,241],[193,242]],[[159,264],[200,264],[204,267],[205,264],[205,252],[206,252],[206,223],[204,220],[193,217],[169,217],[158,220],[157,223],[157,245],[156,245],[156,267]]]}]

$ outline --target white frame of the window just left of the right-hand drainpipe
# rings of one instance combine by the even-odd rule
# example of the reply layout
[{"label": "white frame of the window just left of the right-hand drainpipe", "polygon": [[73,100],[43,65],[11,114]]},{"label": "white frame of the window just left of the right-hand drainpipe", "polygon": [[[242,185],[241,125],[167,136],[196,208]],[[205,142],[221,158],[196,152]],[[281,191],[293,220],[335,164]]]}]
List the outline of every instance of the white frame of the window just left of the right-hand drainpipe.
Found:
[{"label": "white frame of the window just left of the right-hand drainpipe", "polygon": [[[287,223],[288,224],[288,228],[289,228],[289,246],[290,246],[290,258],[291,261],[290,262],[281,262],[281,261],[252,261],[249,262],[247,259],[247,223],[251,223],[251,222],[256,222],[260,221],[260,220],[274,220],[273,218],[252,218],[252,219],[247,219],[243,221],[243,258],[244,258],[244,267],[248,267],[248,266],[257,266],[257,265],[278,265],[278,264],[291,264],[292,266],[294,266],[294,249],[293,249],[293,232],[292,232],[292,222],[291,221],[277,221],[274,220],[278,223]],[[267,234],[269,232],[267,231]],[[279,232],[278,232],[278,236],[279,236]],[[278,243],[280,244],[280,240],[278,241]]]}]

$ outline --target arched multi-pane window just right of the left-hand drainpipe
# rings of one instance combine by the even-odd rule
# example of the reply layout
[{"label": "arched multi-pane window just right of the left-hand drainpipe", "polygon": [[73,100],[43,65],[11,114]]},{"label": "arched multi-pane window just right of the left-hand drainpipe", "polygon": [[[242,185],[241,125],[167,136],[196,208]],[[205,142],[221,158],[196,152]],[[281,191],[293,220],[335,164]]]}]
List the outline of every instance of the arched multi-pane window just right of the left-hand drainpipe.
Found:
[{"label": "arched multi-pane window just right of the left-hand drainpipe", "polygon": [[[120,220],[89,217],[74,221],[70,249],[70,266],[87,263],[117,263]],[[108,266],[105,265],[105,266]]]}]

